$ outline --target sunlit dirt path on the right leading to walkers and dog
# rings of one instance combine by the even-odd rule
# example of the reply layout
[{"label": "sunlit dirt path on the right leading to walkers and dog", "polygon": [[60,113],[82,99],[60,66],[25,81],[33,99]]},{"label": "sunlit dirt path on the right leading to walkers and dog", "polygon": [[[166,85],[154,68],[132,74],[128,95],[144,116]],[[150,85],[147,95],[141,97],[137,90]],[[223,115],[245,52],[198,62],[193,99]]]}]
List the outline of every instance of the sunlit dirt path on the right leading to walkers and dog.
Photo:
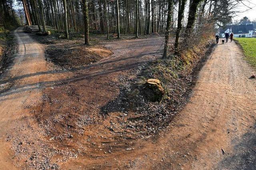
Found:
[{"label": "sunlit dirt path on the right leading to walkers and dog", "polygon": [[131,159],[132,167],[256,169],[256,82],[249,79],[252,72],[238,45],[218,45],[169,132],[145,143],[138,157]]}]

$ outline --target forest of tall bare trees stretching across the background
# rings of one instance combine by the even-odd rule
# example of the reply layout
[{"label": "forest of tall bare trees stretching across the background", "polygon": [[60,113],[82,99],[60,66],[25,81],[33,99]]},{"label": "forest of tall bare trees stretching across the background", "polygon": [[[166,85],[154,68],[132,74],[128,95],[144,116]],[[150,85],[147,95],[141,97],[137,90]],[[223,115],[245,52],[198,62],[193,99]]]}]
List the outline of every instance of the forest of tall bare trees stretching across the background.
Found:
[{"label": "forest of tall bare trees stretching across the background", "polygon": [[[2,19],[14,18],[14,0],[2,0]],[[175,53],[179,51],[180,37],[201,37],[203,32],[214,31],[216,25],[231,23],[232,16],[242,0],[18,0],[23,7],[17,11],[26,25],[38,25],[45,33],[46,25],[69,38],[70,32],[84,32],[89,44],[89,32],[148,35],[165,34],[165,51],[168,38],[175,35]],[[18,16],[15,16],[16,18]],[[40,27],[41,25],[41,27]],[[200,35],[192,35],[201,32]],[[200,38],[199,38],[200,39]],[[186,44],[187,45],[187,44]],[[186,46],[184,45],[184,46]]]}]

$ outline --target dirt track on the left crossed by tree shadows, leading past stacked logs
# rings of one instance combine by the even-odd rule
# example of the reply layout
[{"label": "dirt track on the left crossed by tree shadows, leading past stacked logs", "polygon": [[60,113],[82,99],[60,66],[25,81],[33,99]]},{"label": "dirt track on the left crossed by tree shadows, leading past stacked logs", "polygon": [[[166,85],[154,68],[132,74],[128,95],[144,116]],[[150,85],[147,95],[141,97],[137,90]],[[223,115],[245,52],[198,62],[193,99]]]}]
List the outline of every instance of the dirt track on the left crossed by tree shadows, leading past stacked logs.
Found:
[{"label": "dirt track on the left crossed by tree shadows, leading past stacked logs", "polygon": [[[0,94],[0,169],[14,169],[14,158],[10,143],[6,142],[6,133],[10,132],[26,115],[24,107],[35,102],[40,96],[40,82],[51,80],[47,74],[44,47],[36,43],[19,27],[14,32],[18,43],[18,54],[14,57],[13,66],[7,76],[2,77],[2,87],[11,87]],[[24,114],[22,114],[24,113]]]}]

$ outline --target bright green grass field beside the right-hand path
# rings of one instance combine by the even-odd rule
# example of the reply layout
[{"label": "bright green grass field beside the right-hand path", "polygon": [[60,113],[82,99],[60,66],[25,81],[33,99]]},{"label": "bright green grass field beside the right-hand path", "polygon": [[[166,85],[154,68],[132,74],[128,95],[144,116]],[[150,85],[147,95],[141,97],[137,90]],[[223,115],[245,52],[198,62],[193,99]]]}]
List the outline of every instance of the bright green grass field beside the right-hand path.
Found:
[{"label": "bright green grass field beside the right-hand path", "polygon": [[236,38],[242,46],[246,60],[256,68],[256,38]]}]

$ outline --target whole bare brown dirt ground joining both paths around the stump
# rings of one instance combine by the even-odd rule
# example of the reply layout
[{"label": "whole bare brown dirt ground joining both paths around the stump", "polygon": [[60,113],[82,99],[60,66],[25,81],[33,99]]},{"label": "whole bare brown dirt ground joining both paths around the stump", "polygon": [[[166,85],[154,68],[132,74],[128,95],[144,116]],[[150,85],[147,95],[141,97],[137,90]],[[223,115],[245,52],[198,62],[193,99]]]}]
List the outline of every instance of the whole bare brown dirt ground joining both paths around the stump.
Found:
[{"label": "whole bare brown dirt ground joining both paths around the stump", "polygon": [[181,109],[147,105],[142,113],[166,114],[143,117],[119,99],[161,56],[162,37],[102,42],[108,55],[70,69],[47,62],[49,46],[22,28],[15,36],[18,54],[0,80],[1,169],[256,168],[254,69],[234,42],[214,47]]}]

